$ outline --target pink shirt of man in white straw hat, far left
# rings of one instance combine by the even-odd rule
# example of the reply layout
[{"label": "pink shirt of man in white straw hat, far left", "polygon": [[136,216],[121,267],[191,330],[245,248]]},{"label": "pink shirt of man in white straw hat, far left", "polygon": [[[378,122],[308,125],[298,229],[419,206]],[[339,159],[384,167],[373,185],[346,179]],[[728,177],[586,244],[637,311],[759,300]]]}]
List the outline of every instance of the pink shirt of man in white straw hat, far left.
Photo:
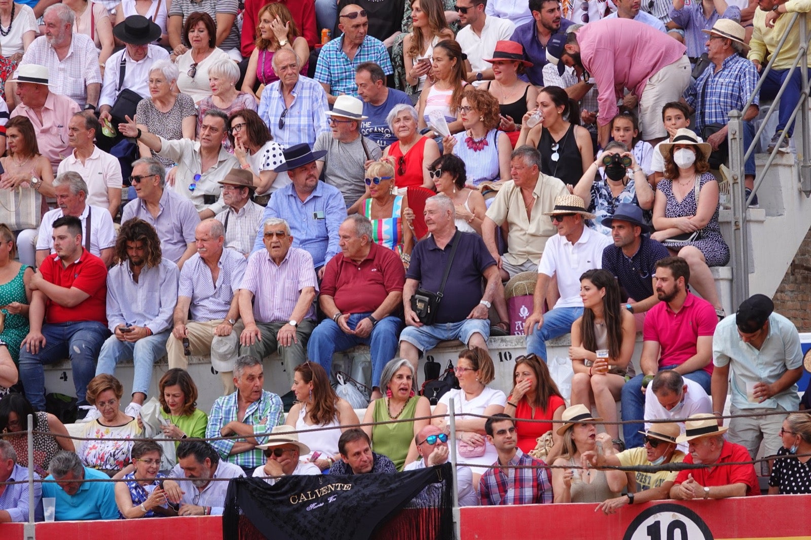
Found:
[{"label": "pink shirt of man in white straw hat, far left", "polygon": [[[73,151],[67,144],[67,122],[79,112],[79,104],[70,97],[59,96],[49,92],[42,106],[42,122],[36,113],[24,103],[20,103],[11,112],[11,118],[24,116],[31,120],[36,132],[36,144],[40,153],[48,158],[56,174],[59,162]],[[105,205],[106,206],[106,205]]]}]

